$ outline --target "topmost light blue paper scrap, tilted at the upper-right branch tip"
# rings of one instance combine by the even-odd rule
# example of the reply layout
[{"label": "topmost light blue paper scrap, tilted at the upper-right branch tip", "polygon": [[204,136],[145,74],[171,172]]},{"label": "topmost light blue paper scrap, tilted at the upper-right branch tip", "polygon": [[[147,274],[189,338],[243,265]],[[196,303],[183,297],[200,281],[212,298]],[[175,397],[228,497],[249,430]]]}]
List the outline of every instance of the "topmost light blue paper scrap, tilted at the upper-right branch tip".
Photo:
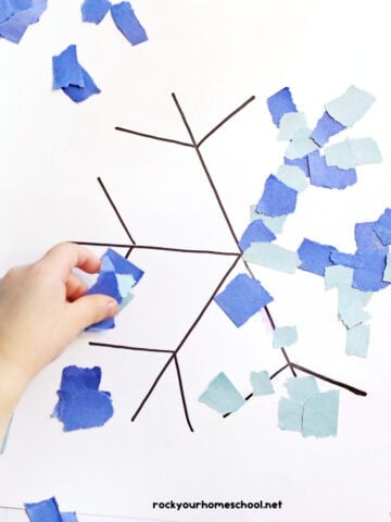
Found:
[{"label": "topmost light blue paper scrap, tilted at the upper-right branch tip", "polygon": [[364,116],[374,101],[373,95],[352,85],[342,96],[326,103],[325,108],[337,122],[352,127]]}]

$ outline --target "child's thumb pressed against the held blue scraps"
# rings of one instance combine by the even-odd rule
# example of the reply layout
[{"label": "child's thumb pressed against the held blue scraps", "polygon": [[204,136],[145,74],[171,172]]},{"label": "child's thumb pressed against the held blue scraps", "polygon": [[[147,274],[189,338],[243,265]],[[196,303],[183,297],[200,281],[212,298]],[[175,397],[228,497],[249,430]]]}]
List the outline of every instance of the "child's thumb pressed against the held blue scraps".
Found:
[{"label": "child's thumb pressed against the held blue scraps", "polygon": [[74,324],[78,332],[103,319],[112,318],[118,311],[118,303],[112,297],[90,294],[76,299],[70,304]]}]

